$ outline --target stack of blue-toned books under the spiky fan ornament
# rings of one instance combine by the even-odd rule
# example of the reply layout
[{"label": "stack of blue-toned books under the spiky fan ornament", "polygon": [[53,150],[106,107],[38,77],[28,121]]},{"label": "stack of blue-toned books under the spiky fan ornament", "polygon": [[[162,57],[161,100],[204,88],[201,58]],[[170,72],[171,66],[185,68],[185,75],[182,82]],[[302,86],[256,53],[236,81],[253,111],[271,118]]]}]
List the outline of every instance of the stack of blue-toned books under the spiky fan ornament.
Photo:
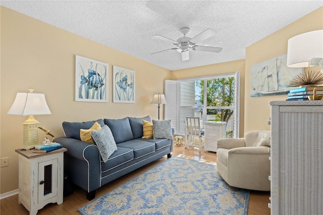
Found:
[{"label": "stack of blue-toned books under the spiky fan ornament", "polygon": [[316,88],[316,95],[323,95],[323,86],[300,87],[300,88],[296,88],[296,89],[291,89],[288,93],[286,101],[308,100],[308,96],[313,95],[314,88]]}]

